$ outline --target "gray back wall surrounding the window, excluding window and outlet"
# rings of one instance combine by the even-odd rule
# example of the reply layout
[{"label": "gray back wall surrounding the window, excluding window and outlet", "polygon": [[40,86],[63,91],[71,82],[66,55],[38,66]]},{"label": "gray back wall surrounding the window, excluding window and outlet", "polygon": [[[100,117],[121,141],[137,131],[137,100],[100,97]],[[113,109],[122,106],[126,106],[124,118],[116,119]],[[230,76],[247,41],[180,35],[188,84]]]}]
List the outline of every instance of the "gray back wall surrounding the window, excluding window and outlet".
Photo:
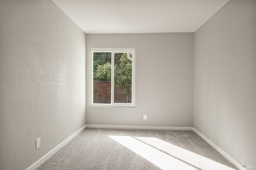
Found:
[{"label": "gray back wall surrounding the window, excluding window and outlet", "polygon": [[87,101],[89,48],[136,48],[136,108],[87,106],[87,124],[192,127],[194,33],[87,34],[86,47]]}]

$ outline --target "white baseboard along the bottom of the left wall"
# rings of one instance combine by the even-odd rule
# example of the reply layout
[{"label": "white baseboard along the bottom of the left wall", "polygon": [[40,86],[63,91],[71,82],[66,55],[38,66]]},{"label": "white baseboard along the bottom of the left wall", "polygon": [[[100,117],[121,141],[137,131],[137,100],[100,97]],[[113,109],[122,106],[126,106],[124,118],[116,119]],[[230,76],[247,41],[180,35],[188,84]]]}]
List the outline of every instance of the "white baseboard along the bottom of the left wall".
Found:
[{"label": "white baseboard along the bottom of the left wall", "polygon": [[81,127],[78,131],[76,131],[73,135],[68,137],[65,141],[60,143],[57,147],[52,149],[50,152],[48,152],[46,155],[44,155],[42,158],[40,158],[38,161],[36,161],[33,165],[31,165],[28,169],[26,170],[35,170],[38,168],[42,163],[44,163],[48,158],[50,158],[53,154],[55,154],[58,150],[60,150],[64,145],[66,145],[69,141],[71,141],[74,137],[76,137],[80,132],[82,132],[86,128],[86,125]]}]

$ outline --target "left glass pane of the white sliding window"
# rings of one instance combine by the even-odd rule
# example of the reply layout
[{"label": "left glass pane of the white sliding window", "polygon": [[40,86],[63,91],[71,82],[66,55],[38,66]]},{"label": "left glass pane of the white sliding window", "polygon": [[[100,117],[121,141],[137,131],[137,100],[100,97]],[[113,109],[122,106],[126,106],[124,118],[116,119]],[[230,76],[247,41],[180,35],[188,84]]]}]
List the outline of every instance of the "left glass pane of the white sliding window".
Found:
[{"label": "left glass pane of the white sliding window", "polygon": [[111,104],[111,52],[93,52],[93,103]]}]

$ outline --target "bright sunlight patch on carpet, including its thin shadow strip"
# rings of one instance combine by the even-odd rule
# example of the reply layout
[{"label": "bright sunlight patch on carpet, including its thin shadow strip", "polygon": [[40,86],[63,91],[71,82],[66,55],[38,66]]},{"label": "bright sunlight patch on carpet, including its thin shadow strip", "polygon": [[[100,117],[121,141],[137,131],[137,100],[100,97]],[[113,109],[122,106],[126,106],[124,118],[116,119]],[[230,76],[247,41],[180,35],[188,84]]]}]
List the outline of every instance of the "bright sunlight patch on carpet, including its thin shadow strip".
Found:
[{"label": "bright sunlight patch on carpet, including its thin shadow strip", "polygon": [[162,170],[234,170],[155,137],[109,136]]}]

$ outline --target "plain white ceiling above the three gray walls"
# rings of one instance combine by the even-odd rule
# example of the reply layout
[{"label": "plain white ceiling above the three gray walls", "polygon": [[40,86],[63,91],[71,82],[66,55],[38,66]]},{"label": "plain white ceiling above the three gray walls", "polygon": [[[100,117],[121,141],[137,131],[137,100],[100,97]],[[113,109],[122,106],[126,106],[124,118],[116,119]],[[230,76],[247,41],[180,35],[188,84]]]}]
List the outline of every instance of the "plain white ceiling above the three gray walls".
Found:
[{"label": "plain white ceiling above the three gray walls", "polygon": [[85,33],[195,32],[229,0],[52,0]]}]

